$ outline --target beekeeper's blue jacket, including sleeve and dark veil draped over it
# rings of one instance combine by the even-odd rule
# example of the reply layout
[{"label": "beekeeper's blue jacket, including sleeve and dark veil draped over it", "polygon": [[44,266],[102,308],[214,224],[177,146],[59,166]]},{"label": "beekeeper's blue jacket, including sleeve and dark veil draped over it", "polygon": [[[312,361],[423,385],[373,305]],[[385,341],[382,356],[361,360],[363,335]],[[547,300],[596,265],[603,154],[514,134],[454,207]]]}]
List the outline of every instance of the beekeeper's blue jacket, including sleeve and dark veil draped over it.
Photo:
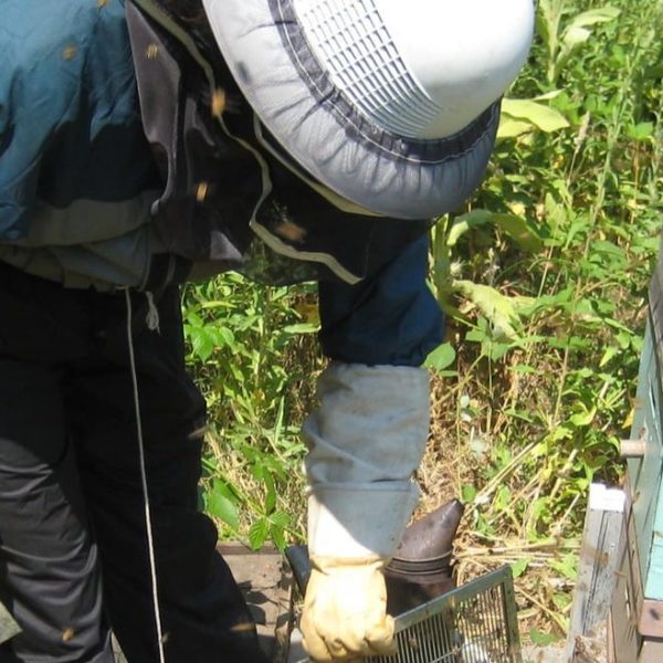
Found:
[{"label": "beekeeper's blue jacket, including sleeve and dark veil draped over it", "polygon": [[[429,223],[341,211],[256,159],[252,110],[211,44],[124,0],[0,0],[0,260],[99,290],[227,269],[316,278],[329,357],[415,366],[441,341]],[[157,72],[151,48],[166,54]],[[236,99],[222,123],[201,57]],[[250,228],[254,212],[276,251]],[[293,223],[305,245],[283,231]]]}]

